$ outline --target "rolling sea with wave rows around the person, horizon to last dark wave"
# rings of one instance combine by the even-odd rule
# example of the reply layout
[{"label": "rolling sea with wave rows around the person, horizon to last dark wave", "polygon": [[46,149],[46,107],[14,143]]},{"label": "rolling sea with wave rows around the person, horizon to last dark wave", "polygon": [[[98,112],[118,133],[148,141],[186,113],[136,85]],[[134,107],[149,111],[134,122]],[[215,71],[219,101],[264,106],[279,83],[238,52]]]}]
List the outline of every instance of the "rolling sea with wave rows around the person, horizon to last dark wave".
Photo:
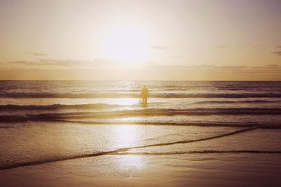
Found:
[{"label": "rolling sea with wave rows around the person, horizon to last dark wave", "polygon": [[[140,102],[141,87],[150,91]],[[281,82],[0,82],[0,120],[280,125]]]}]

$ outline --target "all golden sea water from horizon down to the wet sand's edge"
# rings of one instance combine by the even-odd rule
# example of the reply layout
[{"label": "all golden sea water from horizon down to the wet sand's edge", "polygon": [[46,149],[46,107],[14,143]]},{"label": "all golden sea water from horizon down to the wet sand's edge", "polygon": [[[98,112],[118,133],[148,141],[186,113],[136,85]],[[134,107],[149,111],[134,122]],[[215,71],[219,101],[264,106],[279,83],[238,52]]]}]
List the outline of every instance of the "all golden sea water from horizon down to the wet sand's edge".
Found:
[{"label": "all golden sea water from horizon down to the wet sand's edge", "polygon": [[136,167],[140,155],[270,159],[280,127],[281,82],[0,82],[1,170],[100,155],[135,155]]}]

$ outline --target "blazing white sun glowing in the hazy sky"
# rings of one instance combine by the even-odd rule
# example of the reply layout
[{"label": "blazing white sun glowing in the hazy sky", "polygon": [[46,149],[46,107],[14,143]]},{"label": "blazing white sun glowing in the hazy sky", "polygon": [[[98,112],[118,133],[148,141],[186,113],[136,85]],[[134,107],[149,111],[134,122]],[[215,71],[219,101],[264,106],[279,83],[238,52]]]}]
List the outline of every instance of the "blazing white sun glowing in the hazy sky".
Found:
[{"label": "blazing white sun glowing in the hazy sky", "polygon": [[124,65],[141,63],[148,57],[145,34],[134,27],[117,27],[105,35],[100,53],[103,58]]}]

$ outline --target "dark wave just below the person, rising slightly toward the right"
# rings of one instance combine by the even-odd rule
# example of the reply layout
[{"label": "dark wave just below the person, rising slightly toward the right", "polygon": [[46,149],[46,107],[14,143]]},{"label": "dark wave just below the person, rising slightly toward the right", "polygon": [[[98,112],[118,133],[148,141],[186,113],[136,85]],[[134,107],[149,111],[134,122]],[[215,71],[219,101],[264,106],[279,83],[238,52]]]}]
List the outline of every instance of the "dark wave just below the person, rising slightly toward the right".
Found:
[{"label": "dark wave just below the person, rising slightly toward the right", "polygon": [[116,110],[110,112],[57,112],[27,115],[0,115],[0,122],[161,115],[281,115],[281,108],[192,108],[183,110],[150,108],[145,110]]}]

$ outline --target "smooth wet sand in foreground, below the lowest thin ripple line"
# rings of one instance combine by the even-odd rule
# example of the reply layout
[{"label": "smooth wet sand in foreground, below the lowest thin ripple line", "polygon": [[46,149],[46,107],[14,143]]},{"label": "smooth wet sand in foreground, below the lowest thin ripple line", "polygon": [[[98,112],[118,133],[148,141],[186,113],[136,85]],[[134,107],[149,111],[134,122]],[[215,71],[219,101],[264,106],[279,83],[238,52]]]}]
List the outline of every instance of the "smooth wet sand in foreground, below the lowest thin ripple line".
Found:
[{"label": "smooth wet sand in foreground, below the lowest thin ripple line", "polygon": [[104,155],[2,170],[0,184],[1,186],[280,186],[280,160],[280,154],[264,153]]}]

